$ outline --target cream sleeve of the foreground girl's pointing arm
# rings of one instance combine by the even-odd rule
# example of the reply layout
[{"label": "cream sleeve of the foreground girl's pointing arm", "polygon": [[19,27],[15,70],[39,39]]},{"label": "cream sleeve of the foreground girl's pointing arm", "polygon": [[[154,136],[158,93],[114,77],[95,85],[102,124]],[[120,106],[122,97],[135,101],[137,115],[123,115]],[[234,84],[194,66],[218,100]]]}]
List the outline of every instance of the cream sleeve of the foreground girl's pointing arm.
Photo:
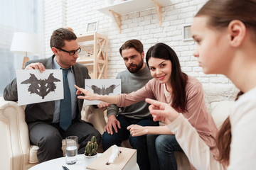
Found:
[{"label": "cream sleeve of the foreground girl's pointing arm", "polygon": [[175,134],[178,144],[196,169],[223,170],[223,166],[214,159],[208,145],[182,114],[167,127]]}]

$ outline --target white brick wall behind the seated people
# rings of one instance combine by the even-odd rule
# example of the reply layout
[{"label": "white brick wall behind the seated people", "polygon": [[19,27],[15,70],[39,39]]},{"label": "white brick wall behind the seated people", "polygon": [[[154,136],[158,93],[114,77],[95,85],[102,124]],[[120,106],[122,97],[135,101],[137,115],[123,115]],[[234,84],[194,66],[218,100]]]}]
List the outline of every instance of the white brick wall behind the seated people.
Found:
[{"label": "white brick wall behind the seated people", "polygon": [[[156,42],[170,45],[179,57],[183,72],[199,79],[203,86],[218,84],[220,88],[224,87],[222,89],[230,86],[234,88],[232,82],[226,77],[203,74],[201,67],[198,67],[196,57],[193,57],[195,42],[182,40],[183,25],[192,23],[193,16],[205,2],[206,0],[171,0],[171,4],[162,9],[161,27],[159,27],[155,8],[124,15],[121,18],[122,32],[119,33],[114,18],[97,11],[97,8],[105,5],[104,0],[45,0],[46,57],[52,55],[49,40],[53,30],[69,26],[77,35],[80,35],[85,33],[87,22],[98,20],[97,32],[109,38],[108,79],[114,79],[118,72],[126,69],[119,55],[119,47],[126,40],[136,38],[144,44],[145,52]],[[236,91],[233,92],[235,93]]]}]

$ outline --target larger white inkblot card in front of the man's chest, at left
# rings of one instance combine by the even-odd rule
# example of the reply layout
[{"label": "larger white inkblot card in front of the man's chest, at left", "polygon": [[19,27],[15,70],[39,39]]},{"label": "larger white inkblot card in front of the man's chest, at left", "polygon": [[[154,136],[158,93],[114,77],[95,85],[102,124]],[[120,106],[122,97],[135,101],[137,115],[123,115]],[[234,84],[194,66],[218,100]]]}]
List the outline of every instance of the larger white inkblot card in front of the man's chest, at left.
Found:
[{"label": "larger white inkblot card in front of the man's chest, at left", "polygon": [[16,70],[18,106],[63,99],[63,73],[61,69]]}]

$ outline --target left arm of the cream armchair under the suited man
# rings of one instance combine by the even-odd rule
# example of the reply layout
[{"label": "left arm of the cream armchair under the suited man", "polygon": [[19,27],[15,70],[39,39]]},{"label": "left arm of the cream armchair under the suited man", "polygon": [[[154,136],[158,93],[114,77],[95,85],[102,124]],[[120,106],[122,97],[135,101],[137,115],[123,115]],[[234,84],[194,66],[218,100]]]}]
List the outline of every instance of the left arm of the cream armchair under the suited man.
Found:
[{"label": "left arm of the cream armchair under the suited man", "polygon": [[0,98],[0,135],[2,169],[29,169],[33,166],[35,160],[28,163],[31,146],[24,107],[14,101],[4,101],[3,97]]}]

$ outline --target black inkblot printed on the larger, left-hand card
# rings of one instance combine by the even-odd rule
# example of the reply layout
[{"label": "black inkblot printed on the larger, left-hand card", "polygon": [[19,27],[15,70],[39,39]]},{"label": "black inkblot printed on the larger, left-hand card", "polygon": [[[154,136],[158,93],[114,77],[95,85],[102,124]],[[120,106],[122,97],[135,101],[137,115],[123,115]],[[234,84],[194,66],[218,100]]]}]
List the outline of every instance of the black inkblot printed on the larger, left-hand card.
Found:
[{"label": "black inkblot printed on the larger, left-hand card", "polygon": [[31,84],[28,86],[28,92],[31,94],[38,94],[42,97],[42,99],[47,96],[50,91],[55,91],[56,86],[54,82],[60,81],[53,77],[53,73],[49,74],[48,79],[39,79],[35,76],[35,74],[30,74],[31,77],[22,81],[21,84]]}]

